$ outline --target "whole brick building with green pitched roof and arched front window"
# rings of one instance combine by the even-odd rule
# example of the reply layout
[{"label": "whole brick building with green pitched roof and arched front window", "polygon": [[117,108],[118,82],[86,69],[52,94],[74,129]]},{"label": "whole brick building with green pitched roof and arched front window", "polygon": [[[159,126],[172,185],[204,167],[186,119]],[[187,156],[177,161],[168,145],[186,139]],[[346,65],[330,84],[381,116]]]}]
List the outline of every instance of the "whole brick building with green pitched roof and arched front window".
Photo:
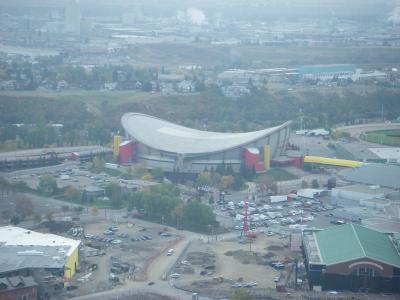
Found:
[{"label": "whole brick building with green pitched roof and arched front window", "polygon": [[400,293],[398,234],[356,224],[303,232],[311,289]]}]

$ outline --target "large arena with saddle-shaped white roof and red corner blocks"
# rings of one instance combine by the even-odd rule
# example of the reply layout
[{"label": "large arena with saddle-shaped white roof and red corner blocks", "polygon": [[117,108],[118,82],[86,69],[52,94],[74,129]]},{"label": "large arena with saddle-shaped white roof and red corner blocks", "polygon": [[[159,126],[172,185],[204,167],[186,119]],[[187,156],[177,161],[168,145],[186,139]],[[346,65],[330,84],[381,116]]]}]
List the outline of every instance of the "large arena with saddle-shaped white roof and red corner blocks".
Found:
[{"label": "large arena with saddle-shaped white roof and red corner blocks", "polygon": [[[245,165],[256,172],[269,168],[289,139],[290,124],[254,132],[220,133],[187,128],[156,117],[122,116],[127,142],[118,145],[121,163],[137,161],[167,172],[199,173],[220,165],[239,172]],[[115,149],[115,145],[114,145]]]}]

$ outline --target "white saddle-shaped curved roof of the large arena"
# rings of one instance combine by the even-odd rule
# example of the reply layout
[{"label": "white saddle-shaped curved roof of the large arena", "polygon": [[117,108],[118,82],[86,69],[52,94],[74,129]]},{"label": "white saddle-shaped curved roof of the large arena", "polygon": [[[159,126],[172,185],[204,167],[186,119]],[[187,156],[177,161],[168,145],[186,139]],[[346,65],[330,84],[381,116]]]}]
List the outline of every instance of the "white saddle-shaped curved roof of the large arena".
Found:
[{"label": "white saddle-shaped curved roof of the large arena", "polygon": [[181,154],[205,154],[219,152],[248,144],[290,125],[244,133],[201,131],[180,126],[156,117],[126,113],[122,126],[138,142],[151,148]]}]

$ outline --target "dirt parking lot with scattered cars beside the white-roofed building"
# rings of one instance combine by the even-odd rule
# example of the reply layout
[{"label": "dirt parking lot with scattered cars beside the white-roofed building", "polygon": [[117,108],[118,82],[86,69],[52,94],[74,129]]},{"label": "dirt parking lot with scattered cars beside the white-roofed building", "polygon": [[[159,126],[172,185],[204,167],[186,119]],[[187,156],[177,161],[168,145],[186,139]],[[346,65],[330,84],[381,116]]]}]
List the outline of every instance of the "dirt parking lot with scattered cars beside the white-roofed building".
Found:
[{"label": "dirt parking lot with scattered cars beside the white-roofed building", "polygon": [[[71,298],[147,280],[151,261],[165,255],[181,236],[171,229],[142,220],[122,218],[85,220],[66,235],[82,240],[81,265],[66,292]],[[173,257],[171,257],[173,260]]]}]

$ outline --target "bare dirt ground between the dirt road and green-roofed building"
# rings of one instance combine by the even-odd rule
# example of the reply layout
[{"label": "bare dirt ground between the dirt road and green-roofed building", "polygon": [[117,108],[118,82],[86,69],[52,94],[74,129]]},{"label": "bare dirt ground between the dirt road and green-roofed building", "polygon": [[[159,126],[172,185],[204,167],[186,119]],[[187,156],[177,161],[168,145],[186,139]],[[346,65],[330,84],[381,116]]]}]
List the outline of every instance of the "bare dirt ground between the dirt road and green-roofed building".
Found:
[{"label": "bare dirt ground between the dirt road and green-roofed building", "polygon": [[[171,271],[181,274],[173,279],[175,286],[186,290],[206,293],[210,296],[229,295],[235,283],[244,286],[256,283],[252,288],[275,290],[275,278],[285,283],[291,263],[299,253],[287,247],[288,239],[278,236],[259,235],[252,243],[241,244],[239,239],[219,241],[193,241],[182,260]],[[270,263],[288,262],[282,270],[274,269]]]}]

